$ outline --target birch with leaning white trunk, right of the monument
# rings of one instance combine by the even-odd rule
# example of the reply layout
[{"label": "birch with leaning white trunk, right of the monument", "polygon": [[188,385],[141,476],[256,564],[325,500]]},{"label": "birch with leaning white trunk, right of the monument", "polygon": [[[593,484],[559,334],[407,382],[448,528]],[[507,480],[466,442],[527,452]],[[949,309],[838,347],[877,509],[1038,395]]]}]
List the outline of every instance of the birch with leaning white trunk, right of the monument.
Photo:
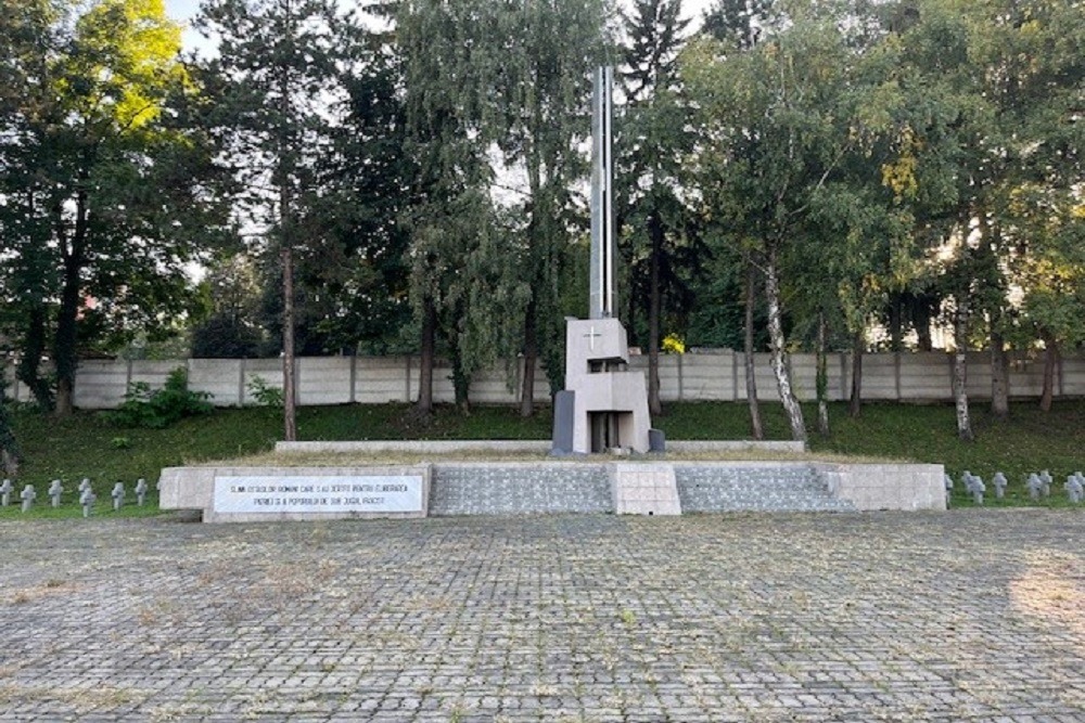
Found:
[{"label": "birch with leaning white trunk, right of the monument", "polygon": [[773,371],[796,440],[806,428],[789,369],[781,271],[792,246],[809,237],[812,204],[858,138],[847,91],[853,62],[835,21],[800,14],[750,51],[702,39],[684,57],[704,113],[705,197],[763,269]]}]

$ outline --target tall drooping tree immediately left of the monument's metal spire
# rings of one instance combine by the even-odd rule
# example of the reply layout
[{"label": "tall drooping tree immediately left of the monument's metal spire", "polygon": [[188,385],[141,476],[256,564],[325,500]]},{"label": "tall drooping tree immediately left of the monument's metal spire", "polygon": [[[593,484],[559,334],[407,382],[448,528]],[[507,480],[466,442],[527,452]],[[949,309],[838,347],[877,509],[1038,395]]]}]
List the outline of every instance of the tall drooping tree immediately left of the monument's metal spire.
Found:
[{"label": "tall drooping tree immediately left of the monument's metal spire", "polygon": [[496,112],[503,119],[496,143],[515,185],[506,218],[523,219],[513,227],[515,251],[505,260],[514,273],[501,284],[508,289],[502,309],[519,309],[523,319],[520,411],[527,416],[539,361],[551,389],[564,384],[560,280],[583,228],[573,188],[587,170],[578,146],[589,128],[588,78],[603,56],[605,7],[600,0],[518,0],[495,12],[492,60],[501,67]]}]

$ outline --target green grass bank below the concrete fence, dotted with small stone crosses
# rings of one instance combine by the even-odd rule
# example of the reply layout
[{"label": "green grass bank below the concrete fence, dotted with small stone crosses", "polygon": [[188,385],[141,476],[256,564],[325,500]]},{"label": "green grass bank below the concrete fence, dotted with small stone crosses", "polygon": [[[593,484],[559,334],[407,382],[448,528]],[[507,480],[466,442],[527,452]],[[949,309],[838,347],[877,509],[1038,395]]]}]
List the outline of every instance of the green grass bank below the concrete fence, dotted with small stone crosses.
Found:
[{"label": "green grass bank below the concrete fence, dotted with small stone crosses", "polygon": [[[470,416],[445,408],[433,423],[421,427],[407,422],[404,405],[307,406],[298,410],[298,438],[304,440],[365,439],[548,439],[550,411],[541,409],[524,419],[509,408],[476,408]],[[749,437],[744,403],[690,402],[667,405],[667,414],[654,421],[668,439],[744,439]],[[814,410],[806,409],[813,422]],[[779,404],[764,404],[769,439],[787,439],[788,425]],[[1043,413],[1034,403],[1014,404],[1009,421],[993,418],[983,404],[973,404],[976,440],[957,440],[954,410],[949,405],[875,404],[852,419],[846,405],[832,405],[832,437],[812,436],[815,453],[832,453],[943,464],[954,479],[963,469],[988,480],[1001,470],[1010,480],[1007,499],[988,505],[1027,505],[1024,479],[1031,472],[1049,469],[1055,477],[1052,498],[1044,505],[1065,505],[1062,482],[1067,475],[1085,467],[1085,400],[1065,401]],[[37,488],[34,516],[76,516],[75,489],[89,477],[99,498],[97,514],[113,515],[110,491],[117,481],[130,490],[136,479],[153,483],[163,467],[191,462],[237,457],[269,450],[281,438],[278,410],[224,409],[182,419],[167,429],[122,429],[106,424],[100,414],[80,412],[54,419],[33,411],[14,414],[15,434],[24,463],[11,507],[0,508],[0,518],[20,516],[18,490],[25,483]],[[49,508],[46,490],[52,479],[63,481],[65,504]],[[967,506],[958,483],[954,504]],[[131,492],[129,492],[131,499]],[[150,499],[150,496],[149,496]],[[122,515],[152,514],[154,506],[125,507]]]}]

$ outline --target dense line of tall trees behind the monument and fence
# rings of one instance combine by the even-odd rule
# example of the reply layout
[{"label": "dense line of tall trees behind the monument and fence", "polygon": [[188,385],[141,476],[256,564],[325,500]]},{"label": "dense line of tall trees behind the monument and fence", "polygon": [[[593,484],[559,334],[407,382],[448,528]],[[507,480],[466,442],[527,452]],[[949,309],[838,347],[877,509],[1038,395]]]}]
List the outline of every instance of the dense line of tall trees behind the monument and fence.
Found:
[{"label": "dense line of tall trees behind the monument and fence", "polygon": [[78,359],[170,338],[282,353],[288,438],[297,354],[420,352],[423,416],[437,354],[464,409],[476,370],[520,356],[532,414],[531,370],[560,386],[586,307],[590,76],[611,64],[623,321],[653,412],[665,346],[768,349],[802,439],[789,351],[854,350],[858,414],[870,330],[929,349],[941,322],[968,438],[966,349],[990,350],[1006,414],[1008,349],[1054,363],[1085,340],[1083,10],[205,0],[215,51],[184,55],[162,0],[0,0],[0,324],[60,414]]}]

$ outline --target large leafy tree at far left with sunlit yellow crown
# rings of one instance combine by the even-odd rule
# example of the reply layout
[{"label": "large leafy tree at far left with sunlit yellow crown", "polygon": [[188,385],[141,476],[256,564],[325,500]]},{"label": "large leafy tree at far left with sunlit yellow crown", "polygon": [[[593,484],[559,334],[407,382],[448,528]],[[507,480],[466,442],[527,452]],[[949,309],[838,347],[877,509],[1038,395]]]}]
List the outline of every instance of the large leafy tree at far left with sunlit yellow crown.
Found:
[{"label": "large leafy tree at far left with sunlit yellow crown", "polygon": [[8,280],[25,310],[20,376],[37,399],[52,327],[55,411],[73,408],[80,348],[162,327],[187,307],[206,243],[206,147],[166,113],[183,95],[180,27],[162,0],[5,0],[0,34]]}]

